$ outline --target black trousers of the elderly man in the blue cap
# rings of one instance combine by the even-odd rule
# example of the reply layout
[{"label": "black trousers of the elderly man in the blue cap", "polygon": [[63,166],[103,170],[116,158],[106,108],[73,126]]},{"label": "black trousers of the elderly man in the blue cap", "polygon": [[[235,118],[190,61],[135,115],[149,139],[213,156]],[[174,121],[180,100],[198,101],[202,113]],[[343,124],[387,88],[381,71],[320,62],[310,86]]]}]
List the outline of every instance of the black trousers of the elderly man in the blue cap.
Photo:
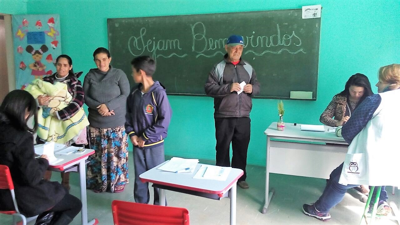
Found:
[{"label": "black trousers of the elderly man in the blue cap", "polygon": [[217,144],[216,165],[231,166],[230,143],[232,142],[232,167],[242,169],[244,174],[238,181],[246,180],[247,148],[250,142],[250,118],[215,118]]}]

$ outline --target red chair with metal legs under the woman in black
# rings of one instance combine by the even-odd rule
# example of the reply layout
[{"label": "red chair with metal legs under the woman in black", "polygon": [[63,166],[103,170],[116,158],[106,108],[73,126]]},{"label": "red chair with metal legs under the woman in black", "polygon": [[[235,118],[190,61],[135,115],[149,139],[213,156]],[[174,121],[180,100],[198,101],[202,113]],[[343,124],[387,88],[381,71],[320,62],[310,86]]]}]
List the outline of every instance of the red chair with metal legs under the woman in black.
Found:
[{"label": "red chair with metal legs under the woman in black", "polygon": [[[8,169],[8,166],[6,166],[6,165],[0,165],[0,189],[9,189],[10,192],[11,192],[12,201],[14,202],[15,210],[13,210],[13,211],[0,211],[0,213],[7,214],[7,215],[13,215],[12,220],[13,220],[14,225],[17,225],[17,224],[18,225],[19,224],[26,225],[27,221],[31,221],[31,220],[36,219],[37,216],[36,217],[29,217],[27,219],[18,210],[18,205],[17,205],[17,201],[15,199],[15,193],[14,193],[14,183],[12,182],[10,169]],[[19,223],[16,223],[16,221],[15,221],[15,217],[16,216],[17,217],[21,217],[22,221],[20,221]]]}]

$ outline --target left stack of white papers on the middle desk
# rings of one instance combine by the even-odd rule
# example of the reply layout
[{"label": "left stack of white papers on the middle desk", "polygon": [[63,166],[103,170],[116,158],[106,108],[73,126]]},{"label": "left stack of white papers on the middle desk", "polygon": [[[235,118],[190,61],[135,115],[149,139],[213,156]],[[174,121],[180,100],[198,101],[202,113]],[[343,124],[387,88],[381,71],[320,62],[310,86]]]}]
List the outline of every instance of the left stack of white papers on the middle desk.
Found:
[{"label": "left stack of white papers on the middle desk", "polygon": [[172,157],[170,161],[164,163],[157,169],[174,173],[191,173],[196,168],[198,162],[199,162],[198,159],[184,159],[179,157]]}]

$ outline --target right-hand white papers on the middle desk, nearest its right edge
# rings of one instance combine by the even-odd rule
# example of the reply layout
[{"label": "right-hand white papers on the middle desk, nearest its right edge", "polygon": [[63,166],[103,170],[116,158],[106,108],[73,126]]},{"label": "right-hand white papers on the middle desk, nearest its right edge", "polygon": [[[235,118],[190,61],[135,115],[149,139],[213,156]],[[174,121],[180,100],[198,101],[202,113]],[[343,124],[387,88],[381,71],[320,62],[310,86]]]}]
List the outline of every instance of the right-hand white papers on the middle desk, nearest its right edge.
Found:
[{"label": "right-hand white papers on the middle desk, nearest its right edge", "polygon": [[200,169],[197,171],[193,178],[225,181],[226,178],[228,178],[231,169],[232,167],[201,165]]}]

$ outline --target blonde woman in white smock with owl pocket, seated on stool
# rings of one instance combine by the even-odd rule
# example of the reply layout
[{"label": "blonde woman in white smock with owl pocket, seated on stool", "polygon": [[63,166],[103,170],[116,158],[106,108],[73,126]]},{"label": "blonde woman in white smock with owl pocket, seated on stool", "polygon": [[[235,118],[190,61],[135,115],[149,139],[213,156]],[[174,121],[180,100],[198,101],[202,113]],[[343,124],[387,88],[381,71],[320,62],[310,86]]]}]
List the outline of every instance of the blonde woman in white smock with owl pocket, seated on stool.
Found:
[{"label": "blonde woman in white smock with owl pocket, seated on stool", "polygon": [[[400,65],[381,67],[378,78],[379,93],[367,97],[343,125],[342,135],[349,143],[344,163],[332,171],[321,197],[311,205],[303,205],[304,214],[327,221],[329,210],[342,201],[347,189],[358,185],[400,184],[397,157]],[[377,214],[390,212],[381,191]]]}]

